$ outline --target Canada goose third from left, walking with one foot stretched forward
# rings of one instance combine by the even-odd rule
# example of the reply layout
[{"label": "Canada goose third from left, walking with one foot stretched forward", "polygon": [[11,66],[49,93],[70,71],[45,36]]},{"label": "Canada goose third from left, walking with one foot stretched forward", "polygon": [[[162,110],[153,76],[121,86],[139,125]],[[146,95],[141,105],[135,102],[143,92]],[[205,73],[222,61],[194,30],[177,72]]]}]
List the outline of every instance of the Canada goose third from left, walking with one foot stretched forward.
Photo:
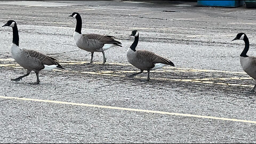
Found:
[{"label": "Canada goose third from left, walking with one foot stretched forward", "polygon": [[135,75],[143,73],[143,70],[148,71],[148,78],[147,81],[149,81],[149,71],[155,70],[158,68],[162,68],[166,65],[174,66],[174,64],[163,57],[160,57],[159,55],[145,50],[138,50],[136,51],[136,46],[139,42],[139,32],[138,30],[133,30],[132,34],[130,36],[134,36],[134,42],[130,46],[130,49],[127,50],[126,57],[127,60],[134,66],[139,68],[141,71],[139,73],[135,73],[132,75],[129,75],[128,77],[134,77]]}]

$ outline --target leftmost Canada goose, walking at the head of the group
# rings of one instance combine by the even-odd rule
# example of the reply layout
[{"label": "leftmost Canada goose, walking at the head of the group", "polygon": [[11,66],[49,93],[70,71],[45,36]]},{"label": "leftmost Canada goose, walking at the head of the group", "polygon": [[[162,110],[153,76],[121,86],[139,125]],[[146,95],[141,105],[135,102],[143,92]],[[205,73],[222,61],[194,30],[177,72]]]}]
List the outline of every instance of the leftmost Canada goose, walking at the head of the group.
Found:
[{"label": "leftmost Canada goose, walking at the head of the group", "polygon": [[54,58],[48,57],[42,53],[39,53],[34,50],[25,50],[19,47],[19,34],[17,23],[14,20],[9,20],[2,27],[12,27],[13,30],[13,38],[12,38],[12,46],[11,53],[12,58],[19,63],[19,65],[25,69],[27,69],[27,74],[20,76],[15,79],[11,79],[11,81],[18,82],[25,76],[28,76],[30,72],[33,70],[36,73],[37,81],[36,83],[30,84],[39,84],[39,71],[51,71],[55,68],[64,69]]}]

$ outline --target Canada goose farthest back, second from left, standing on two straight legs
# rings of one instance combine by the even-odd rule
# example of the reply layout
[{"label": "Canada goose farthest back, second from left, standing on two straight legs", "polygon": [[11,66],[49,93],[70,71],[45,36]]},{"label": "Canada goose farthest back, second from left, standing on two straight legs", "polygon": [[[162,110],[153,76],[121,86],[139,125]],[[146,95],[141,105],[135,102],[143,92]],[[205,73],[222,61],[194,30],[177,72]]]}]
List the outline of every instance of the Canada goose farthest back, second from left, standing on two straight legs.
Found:
[{"label": "Canada goose farthest back, second from left, standing on two straight legs", "polygon": [[116,41],[114,36],[103,36],[98,34],[82,34],[82,18],[79,13],[74,12],[69,17],[76,18],[76,29],[74,31],[74,39],[76,45],[85,51],[91,52],[91,62],[93,59],[94,52],[102,52],[103,54],[103,63],[106,62],[105,52],[110,49],[110,47],[121,46],[122,43]]}]

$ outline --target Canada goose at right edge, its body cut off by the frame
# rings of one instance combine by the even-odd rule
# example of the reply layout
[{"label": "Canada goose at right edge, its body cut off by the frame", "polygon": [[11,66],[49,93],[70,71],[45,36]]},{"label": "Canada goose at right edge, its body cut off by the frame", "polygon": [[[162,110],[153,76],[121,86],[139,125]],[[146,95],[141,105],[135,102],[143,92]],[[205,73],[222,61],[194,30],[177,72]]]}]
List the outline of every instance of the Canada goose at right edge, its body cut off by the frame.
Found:
[{"label": "Canada goose at right edge, its body cut off by the frame", "polygon": [[[254,78],[256,80],[256,57],[248,56],[246,53],[249,50],[249,39],[244,33],[239,33],[236,35],[236,37],[232,40],[235,41],[237,39],[244,40],[245,47],[243,52],[240,54],[239,60],[241,63],[241,66],[245,73],[247,73],[249,76]],[[256,87],[256,84],[254,85],[251,92],[254,92]]]}]

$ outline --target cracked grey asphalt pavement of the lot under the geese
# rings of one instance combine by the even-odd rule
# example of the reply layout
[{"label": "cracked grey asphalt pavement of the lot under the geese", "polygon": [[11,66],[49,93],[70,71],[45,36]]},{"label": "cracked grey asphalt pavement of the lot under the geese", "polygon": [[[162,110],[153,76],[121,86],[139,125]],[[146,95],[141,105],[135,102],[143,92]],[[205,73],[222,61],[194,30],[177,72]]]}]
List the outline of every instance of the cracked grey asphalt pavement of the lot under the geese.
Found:
[{"label": "cracked grey asphalt pavement of the lot under the geese", "polygon": [[[241,68],[243,41],[256,55],[254,9],[202,7],[187,1],[1,1],[0,25],[17,22],[20,47],[56,58],[65,70],[26,73],[11,57],[12,29],[0,28],[1,143],[256,143],[255,84]],[[115,36],[123,47],[78,49],[73,33]],[[170,59],[134,78],[137,50]]]}]

